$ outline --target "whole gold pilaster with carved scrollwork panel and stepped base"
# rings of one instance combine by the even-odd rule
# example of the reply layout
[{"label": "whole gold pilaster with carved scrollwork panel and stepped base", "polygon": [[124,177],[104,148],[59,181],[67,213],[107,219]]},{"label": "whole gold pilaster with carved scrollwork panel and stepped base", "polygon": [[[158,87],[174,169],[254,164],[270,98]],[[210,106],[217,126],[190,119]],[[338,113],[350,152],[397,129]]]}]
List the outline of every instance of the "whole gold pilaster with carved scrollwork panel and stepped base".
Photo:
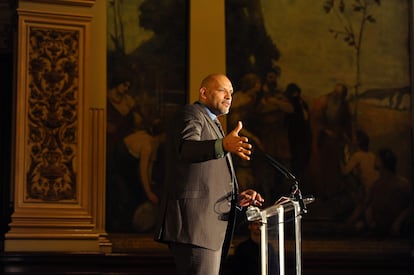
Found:
[{"label": "whole gold pilaster with carved scrollwork panel and stepped base", "polygon": [[51,236],[55,242],[45,242],[46,250],[59,250],[53,247],[59,240],[79,241],[76,250],[97,250],[95,223],[102,227],[103,221],[94,218],[99,188],[91,183],[94,122],[85,84],[91,17],[27,10],[18,15],[15,209],[6,250],[26,250],[19,241],[36,246]]}]

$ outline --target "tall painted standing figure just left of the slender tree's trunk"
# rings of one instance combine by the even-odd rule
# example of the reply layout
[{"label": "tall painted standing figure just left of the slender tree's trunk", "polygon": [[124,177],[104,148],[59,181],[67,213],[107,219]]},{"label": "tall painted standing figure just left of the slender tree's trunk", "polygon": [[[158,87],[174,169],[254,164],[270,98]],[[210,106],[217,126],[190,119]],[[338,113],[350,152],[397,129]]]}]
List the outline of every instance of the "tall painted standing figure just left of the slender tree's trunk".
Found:
[{"label": "tall painted standing figure just left of the slender tree's trunk", "polygon": [[340,162],[352,137],[347,93],[344,84],[336,84],[332,92],[315,100],[311,111],[312,152],[307,179],[311,191],[323,201],[343,195]]}]

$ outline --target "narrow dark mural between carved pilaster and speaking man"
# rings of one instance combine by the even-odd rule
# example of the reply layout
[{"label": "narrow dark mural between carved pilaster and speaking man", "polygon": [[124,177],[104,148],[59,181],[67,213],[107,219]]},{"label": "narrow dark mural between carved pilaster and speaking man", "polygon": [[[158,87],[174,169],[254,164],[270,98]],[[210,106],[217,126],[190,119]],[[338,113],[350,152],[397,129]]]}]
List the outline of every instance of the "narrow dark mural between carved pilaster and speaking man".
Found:
[{"label": "narrow dark mural between carved pilaster and speaking man", "polygon": [[107,3],[107,230],[148,232],[164,125],[186,101],[187,1]]}]

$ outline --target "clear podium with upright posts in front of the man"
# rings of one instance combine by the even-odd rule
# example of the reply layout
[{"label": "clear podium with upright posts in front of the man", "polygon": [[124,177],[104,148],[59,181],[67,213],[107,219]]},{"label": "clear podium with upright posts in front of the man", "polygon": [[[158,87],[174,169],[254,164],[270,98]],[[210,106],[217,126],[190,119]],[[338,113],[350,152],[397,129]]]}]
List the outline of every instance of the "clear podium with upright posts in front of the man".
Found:
[{"label": "clear podium with upright posts in front of the man", "polygon": [[268,275],[268,219],[277,216],[278,244],[279,244],[279,275],[285,274],[285,213],[293,210],[295,226],[295,262],[296,274],[302,274],[302,237],[301,219],[303,207],[313,202],[313,197],[296,200],[295,198],[281,197],[272,206],[259,209],[256,206],[249,206],[246,211],[248,221],[260,221],[260,251],[262,275]]}]

